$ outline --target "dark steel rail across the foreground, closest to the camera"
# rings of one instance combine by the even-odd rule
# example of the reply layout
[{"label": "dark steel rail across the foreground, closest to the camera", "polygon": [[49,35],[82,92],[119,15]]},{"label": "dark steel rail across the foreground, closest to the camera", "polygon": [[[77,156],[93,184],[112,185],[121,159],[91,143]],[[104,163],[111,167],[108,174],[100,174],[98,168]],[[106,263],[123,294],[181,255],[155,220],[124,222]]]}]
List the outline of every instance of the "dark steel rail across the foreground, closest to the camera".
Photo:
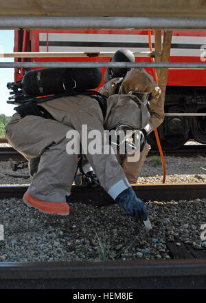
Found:
[{"label": "dark steel rail across the foreground, closest to the camera", "polygon": [[0,262],[0,289],[205,289],[205,261]]}]

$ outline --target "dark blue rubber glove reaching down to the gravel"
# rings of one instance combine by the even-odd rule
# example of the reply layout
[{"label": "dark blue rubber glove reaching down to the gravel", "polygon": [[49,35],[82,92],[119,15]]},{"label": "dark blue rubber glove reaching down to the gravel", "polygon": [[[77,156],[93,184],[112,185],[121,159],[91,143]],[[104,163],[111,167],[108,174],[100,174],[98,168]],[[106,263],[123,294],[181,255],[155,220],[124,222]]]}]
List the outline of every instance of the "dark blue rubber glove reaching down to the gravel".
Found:
[{"label": "dark blue rubber glove reaching down to the gravel", "polygon": [[124,189],[124,191],[117,196],[115,202],[117,202],[129,216],[135,217],[136,220],[147,220],[146,205],[137,198],[132,187]]}]

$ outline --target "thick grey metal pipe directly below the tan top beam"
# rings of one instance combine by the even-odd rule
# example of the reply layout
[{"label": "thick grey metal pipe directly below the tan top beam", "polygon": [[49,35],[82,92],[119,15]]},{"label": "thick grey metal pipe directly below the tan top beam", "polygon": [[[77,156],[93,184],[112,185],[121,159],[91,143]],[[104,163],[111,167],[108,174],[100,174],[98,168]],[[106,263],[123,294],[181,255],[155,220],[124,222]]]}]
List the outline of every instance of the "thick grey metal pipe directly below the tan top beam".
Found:
[{"label": "thick grey metal pipe directly below the tan top beam", "polygon": [[176,17],[1,17],[0,29],[141,28],[205,30],[205,18]]}]

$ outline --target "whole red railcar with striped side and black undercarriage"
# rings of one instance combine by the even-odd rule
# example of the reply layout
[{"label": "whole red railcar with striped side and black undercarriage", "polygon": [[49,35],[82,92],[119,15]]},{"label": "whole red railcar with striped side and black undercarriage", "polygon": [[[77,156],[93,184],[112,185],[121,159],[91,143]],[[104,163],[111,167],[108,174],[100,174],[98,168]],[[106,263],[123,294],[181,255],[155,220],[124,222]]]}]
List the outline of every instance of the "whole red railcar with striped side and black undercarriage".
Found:
[{"label": "whole red railcar with striped side and black undercarriage", "polygon": [[[154,38],[154,37],[153,37]],[[154,42],[154,39],[153,39]],[[16,30],[14,52],[115,52],[127,48],[149,51],[147,30]],[[155,45],[153,45],[155,49]],[[206,49],[205,31],[174,31],[170,62],[201,62]],[[30,58],[25,61],[110,61],[111,57]],[[21,59],[15,59],[16,61]],[[136,61],[150,61],[149,57]],[[105,69],[102,68],[104,74]],[[147,70],[152,74],[152,69]],[[23,69],[15,69],[15,81],[21,81]],[[104,77],[102,77],[103,85]],[[165,112],[206,112],[206,70],[170,69],[165,96]],[[205,116],[165,116],[159,127],[163,149],[178,148],[194,138],[206,143]],[[150,144],[155,145],[153,134]]]}]

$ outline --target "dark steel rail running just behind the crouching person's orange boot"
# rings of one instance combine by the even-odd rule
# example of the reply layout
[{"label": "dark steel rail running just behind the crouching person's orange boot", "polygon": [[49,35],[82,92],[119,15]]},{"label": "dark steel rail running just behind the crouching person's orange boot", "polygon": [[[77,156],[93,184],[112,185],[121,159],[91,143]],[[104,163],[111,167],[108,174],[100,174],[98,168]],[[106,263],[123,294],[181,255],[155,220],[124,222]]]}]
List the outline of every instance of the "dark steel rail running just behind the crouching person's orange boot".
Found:
[{"label": "dark steel rail running just behind the crouching person's orange boot", "polygon": [[[194,200],[206,197],[206,183],[179,183],[133,185],[137,196],[144,201]],[[22,198],[26,186],[0,186],[0,199]],[[73,186],[67,202],[82,202],[84,204],[109,205],[113,199],[102,187]]]}]

